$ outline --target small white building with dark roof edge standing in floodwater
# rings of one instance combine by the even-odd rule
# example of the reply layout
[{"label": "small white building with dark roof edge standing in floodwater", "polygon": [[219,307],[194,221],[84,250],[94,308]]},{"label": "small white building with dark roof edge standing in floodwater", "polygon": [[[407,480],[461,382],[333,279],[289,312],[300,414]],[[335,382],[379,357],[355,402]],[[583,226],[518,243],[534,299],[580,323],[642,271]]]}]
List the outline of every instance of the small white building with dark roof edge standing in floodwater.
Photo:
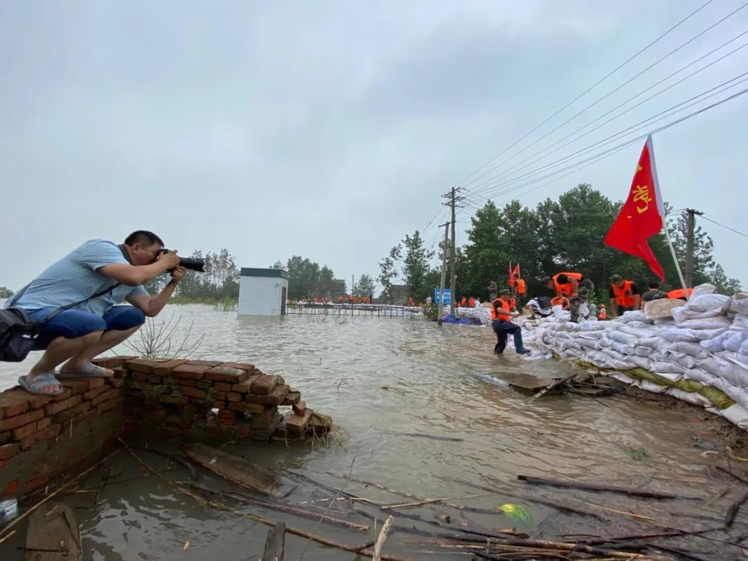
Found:
[{"label": "small white building with dark roof edge standing in floodwater", "polygon": [[242,267],[239,278],[239,314],[281,316],[286,313],[287,272],[281,269]]}]

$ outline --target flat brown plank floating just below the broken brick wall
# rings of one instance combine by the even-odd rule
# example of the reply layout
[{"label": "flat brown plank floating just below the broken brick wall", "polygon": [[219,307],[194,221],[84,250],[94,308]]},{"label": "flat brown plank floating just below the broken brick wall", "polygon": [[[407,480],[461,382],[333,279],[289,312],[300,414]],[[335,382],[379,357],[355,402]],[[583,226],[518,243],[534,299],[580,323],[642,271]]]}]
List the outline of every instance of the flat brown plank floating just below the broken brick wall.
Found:
[{"label": "flat brown plank floating just below the broken brick wall", "polygon": [[224,479],[252,491],[281,498],[286,497],[297,486],[287,477],[264,465],[206,446],[206,444],[186,444],[183,450],[203,468],[218,473]]}]

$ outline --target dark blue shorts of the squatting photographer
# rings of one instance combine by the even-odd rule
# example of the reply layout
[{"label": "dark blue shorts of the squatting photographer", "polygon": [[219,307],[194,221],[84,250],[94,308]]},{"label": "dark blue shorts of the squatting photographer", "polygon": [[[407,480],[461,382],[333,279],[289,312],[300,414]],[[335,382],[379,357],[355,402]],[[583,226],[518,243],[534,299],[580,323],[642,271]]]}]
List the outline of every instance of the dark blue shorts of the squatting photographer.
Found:
[{"label": "dark blue shorts of the squatting photographer", "polygon": [[[43,320],[55,308],[37,310],[31,316]],[[85,310],[64,310],[44,324],[34,349],[46,349],[56,337],[76,339],[94,331],[127,331],[145,323],[143,310],[135,306],[114,306],[103,317]]]}]

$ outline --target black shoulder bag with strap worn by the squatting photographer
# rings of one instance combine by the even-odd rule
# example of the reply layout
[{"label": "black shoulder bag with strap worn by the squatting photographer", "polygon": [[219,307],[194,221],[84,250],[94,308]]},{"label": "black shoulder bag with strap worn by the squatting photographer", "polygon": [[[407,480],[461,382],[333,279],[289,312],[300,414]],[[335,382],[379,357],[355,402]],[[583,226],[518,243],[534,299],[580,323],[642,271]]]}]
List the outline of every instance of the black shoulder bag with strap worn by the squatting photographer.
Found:
[{"label": "black shoulder bag with strap worn by the squatting photographer", "polygon": [[80,304],[85,304],[89,300],[99,298],[105,294],[110,294],[120,283],[114,283],[105,289],[100,289],[95,294],[81,300],[79,302],[73,302],[73,304],[67,304],[67,306],[58,307],[57,310],[53,311],[46,316],[43,320],[39,321],[31,317],[31,315],[20,307],[14,307],[19,298],[26,292],[27,284],[21,289],[18,294],[13,296],[10,300],[10,307],[5,310],[0,310],[0,361],[1,362],[21,362],[26,358],[28,352],[34,348],[37,337],[42,331],[44,324],[49,322],[50,319],[57,316],[58,313],[70,310],[70,308],[76,307]]}]

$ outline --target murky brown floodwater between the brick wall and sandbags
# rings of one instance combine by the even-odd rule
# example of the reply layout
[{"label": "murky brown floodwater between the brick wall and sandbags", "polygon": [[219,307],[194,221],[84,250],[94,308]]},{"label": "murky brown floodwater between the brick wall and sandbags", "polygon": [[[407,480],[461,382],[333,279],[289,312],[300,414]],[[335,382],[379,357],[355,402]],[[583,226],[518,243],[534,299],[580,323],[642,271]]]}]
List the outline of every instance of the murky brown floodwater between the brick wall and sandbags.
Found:
[{"label": "murky brown floodwater between the brick wall and sandbags", "polygon": [[[248,361],[266,373],[280,373],[287,383],[301,390],[309,407],[331,415],[348,433],[343,441],[313,447],[276,441],[230,445],[226,450],[273,468],[304,473],[334,488],[345,483],[345,491],[381,503],[408,503],[413,499],[345,482],[330,472],[350,472],[354,479],[417,497],[455,497],[448,502],[479,509],[497,510],[503,503],[517,503],[531,516],[530,521],[519,521],[505,514],[476,513],[434,503],[402,510],[420,515],[423,521],[396,514],[396,524],[403,527],[432,532],[461,527],[517,527],[541,539],[560,539],[566,533],[645,534],[661,531],[660,527],[699,530],[719,526],[729,504],[742,493],[728,476],[714,470],[717,463],[728,465],[719,430],[723,425],[705,420],[704,411],[625,396],[595,400],[565,394],[528,402],[527,395],[513,390],[502,378],[512,373],[533,373],[550,380],[570,373],[571,367],[555,361],[524,361],[511,346],[505,355],[495,356],[494,336],[488,328],[438,328],[434,322],[402,318],[250,318],[204,306],[170,306],[162,319],[170,316],[180,320],[179,334],[191,325],[188,343],[203,335],[194,358]],[[181,337],[175,336],[175,342],[179,343]],[[25,366],[0,364],[0,388],[13,385]],[[164,443],[153,446],[168,448]],[[167,465],[159,456],[142,456],[158,469]],[[64,497],[76,508],[85,560],[204,561],[209,556],[221,561],[259,559],[266,526],[198,504],[156,477],[142,476],[144,470],[124,451],[117,453],[107,467],[110,465],[117,476],[106,485],[96,506],[93,497],[99,488],[98,475],[85,484],[92,492]],[[732,468],[742,471],[736,460],[732,460]],[[531,486],[519,482],[518,474],[672,491],[699,498],[636,499]],[[179,465],[172,466],[167,476],[188,480],[188,472]],[[203,473],[200,485],[233,488],[209,473]],[[725,489],[729,490],[726,494],[709,502]],[[307,482],[287,500],[321,513],[329,503],[319,500],[332,495]],[[528,498],[565,503],[592,515],[560,512]],[[283,520],[304,530],[313,530],[316,525],[313,520],[230,504],[242,512]],[[349,544],[373,541],[374,518],[378,532],[387,514],[364,503],[356,508],[369,514],[365,517],[353,512],[349,503],[337,501],[329,515],[371,524],[368,533],[327,524],[320,524],[316,533]],[[449,523],[443,515],[450,515]],[[738,515],[732,538],[717,532],[707,534],[709,539],[690,537],[660,543],[677,545],[708,560],[740,559],[741,548],[720,540],[745,533],[748,518],[744,516]],[[465,551],[440,548],[426,543],[429,541],[435,539],[396,532],[387,539],[384,551],[413,560],[470,559]],[[21,539],[0,545],[0,559],[21,560],[19,545]],[[306,539],[287,535],[286,560],[299,559],[305,546]],[[355,554],[311,543],[303,558],[352,560]]]}]

